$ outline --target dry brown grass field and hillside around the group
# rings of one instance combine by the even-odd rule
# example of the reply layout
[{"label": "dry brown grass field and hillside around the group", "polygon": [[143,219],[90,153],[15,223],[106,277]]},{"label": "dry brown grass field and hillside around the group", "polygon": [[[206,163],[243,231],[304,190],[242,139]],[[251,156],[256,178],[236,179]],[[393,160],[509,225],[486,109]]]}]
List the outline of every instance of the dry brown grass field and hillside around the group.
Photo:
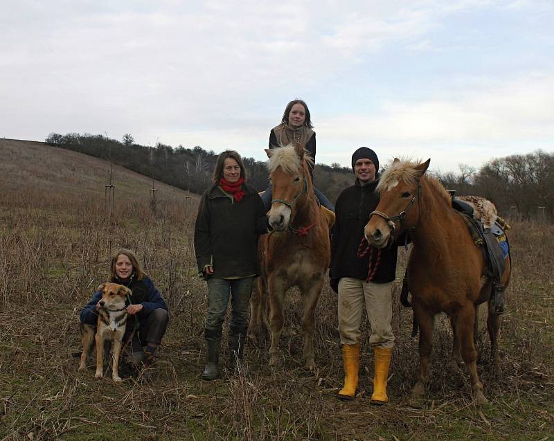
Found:
[{"label": "dry brown grass field and hillside around the group", "polygon": [[[0,157],[0,440],[554,439],[554,226],[512,225],[501,377],[490,372],[483,326],[479,334],[478,369],[490,405],[476,408],[466,373],[447,367],[452,340],[444,316],[436,320],[427,397],[408,398],[417,339],[397,283],[390,403],[375,407],[366,327],[362,393],[352,402],[335,398],[343,374],[337,298],[328,287],[316,314],[315,372],[301,368],[299,299],[292,293],[284,368],[267,366],[268,343],[260,339],[245,351],[245,374],[201,381],[206,289],[193,252],[196,199],[157,183],[154,216],[150,179],[116,167],[109,219],[108,163],[1,139]],[[137,251],[170,307],[157,362],[120,385],[95,379],[93,368],[78,372],[73,357],[80,352],[78,312],[105,281],[119,246]]]}]

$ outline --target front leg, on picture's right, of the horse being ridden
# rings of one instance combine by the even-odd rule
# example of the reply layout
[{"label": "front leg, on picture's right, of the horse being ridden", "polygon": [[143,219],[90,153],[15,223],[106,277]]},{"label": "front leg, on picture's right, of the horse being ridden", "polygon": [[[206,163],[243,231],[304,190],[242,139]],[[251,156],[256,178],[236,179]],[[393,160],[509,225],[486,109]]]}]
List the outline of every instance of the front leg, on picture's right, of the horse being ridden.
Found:
[{"label": "front leg, on picture's right, of the horse being ridden", "polygon": [[321,274],[314,274],[312,278],[307,279],[306,282],[301,284],[302,297],[303,297],[303,314],[302,314],[302,329],[303,329],[303,341],[304,352],[303,358],[305,361],[305,368],[312,370],[315,367],[314,362],[314,312],[316,309],[317,301],[321,295],[321,289],[323,289],[323,278]]}]

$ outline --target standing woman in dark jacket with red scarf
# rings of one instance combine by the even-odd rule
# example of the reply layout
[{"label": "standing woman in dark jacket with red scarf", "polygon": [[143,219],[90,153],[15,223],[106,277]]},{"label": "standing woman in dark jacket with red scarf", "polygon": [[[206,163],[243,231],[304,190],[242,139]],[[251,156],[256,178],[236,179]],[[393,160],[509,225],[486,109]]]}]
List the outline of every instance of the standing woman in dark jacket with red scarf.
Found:
[{"label": "standing woman in dark jacket with red scarf", "polygon": [[256,190],[244,183],[246,174],[237,152],[226,150],[217,157],[213,186],[198,208],[195,253],[199,273],[208,285],[206,368],[202,379],[219,377],[222,325],[231,298],[229,325],[230,366],[235,369],[244,354],[249,324],[252,282],[259,275],[256,244],[267,233],[267,216]]}]

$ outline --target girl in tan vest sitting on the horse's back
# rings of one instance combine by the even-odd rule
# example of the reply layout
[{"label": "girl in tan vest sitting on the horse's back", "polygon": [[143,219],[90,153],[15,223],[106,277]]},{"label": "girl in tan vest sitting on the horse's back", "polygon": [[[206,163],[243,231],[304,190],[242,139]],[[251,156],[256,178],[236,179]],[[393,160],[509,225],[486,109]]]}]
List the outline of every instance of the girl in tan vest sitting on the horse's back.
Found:
[{"label": "girl in tan vest sitting on the horse's back", "polygon": [[[306,103],[303,100],[292,100],[289,104],[287,104],[287,107],[285,107],[281,123],[276,125],[276,127],[271,129],[271,132],[269,132],[269,148],[273,149],[275,147],[279,147],[280,145],[298,143],[303,145],[305,150],[309,152],[312,159],[314,159],[315,164],[316,132],[312,130],[313,128],[314,125],[312,124],[312,116]],[[312,176],[313,181],[313,167],[310,168],[310,175]],[[333,204],[331,204],[329,199],[327,199],[321,191],[314,187],[314,192],[316,194],[316,198],[319,199],[322,206],[334,211]],[[262,194],[262,201],[264,202],[267,210],[271,207],[271,196],[271,186],[268,186]]]}]

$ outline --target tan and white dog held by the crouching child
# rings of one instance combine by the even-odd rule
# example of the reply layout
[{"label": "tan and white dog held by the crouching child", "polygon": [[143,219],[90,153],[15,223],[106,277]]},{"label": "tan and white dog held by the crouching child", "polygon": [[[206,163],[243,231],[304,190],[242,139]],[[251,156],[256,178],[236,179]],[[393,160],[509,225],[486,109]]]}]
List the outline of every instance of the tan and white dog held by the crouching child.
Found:
[{"label": "tan and white dog held by the crouching child", "polygon": [[[98,302],[98,324],[96,326],[96,378],[102,377],[104,362],[104,342],[111,341],[114,360],[111,365],[111,378],[120,382],[119,377],[119,356],[125,326],[127,323],[127,308],[125,307],[126,296],[132,295],[132,291],[118,285],[117,283],[102,283],[98,287],[102,291],[102,298]],[[86,368],[87,355],[90,352],[94,336],[93,325],[82,325],[82,354],[79,369]]]}]

